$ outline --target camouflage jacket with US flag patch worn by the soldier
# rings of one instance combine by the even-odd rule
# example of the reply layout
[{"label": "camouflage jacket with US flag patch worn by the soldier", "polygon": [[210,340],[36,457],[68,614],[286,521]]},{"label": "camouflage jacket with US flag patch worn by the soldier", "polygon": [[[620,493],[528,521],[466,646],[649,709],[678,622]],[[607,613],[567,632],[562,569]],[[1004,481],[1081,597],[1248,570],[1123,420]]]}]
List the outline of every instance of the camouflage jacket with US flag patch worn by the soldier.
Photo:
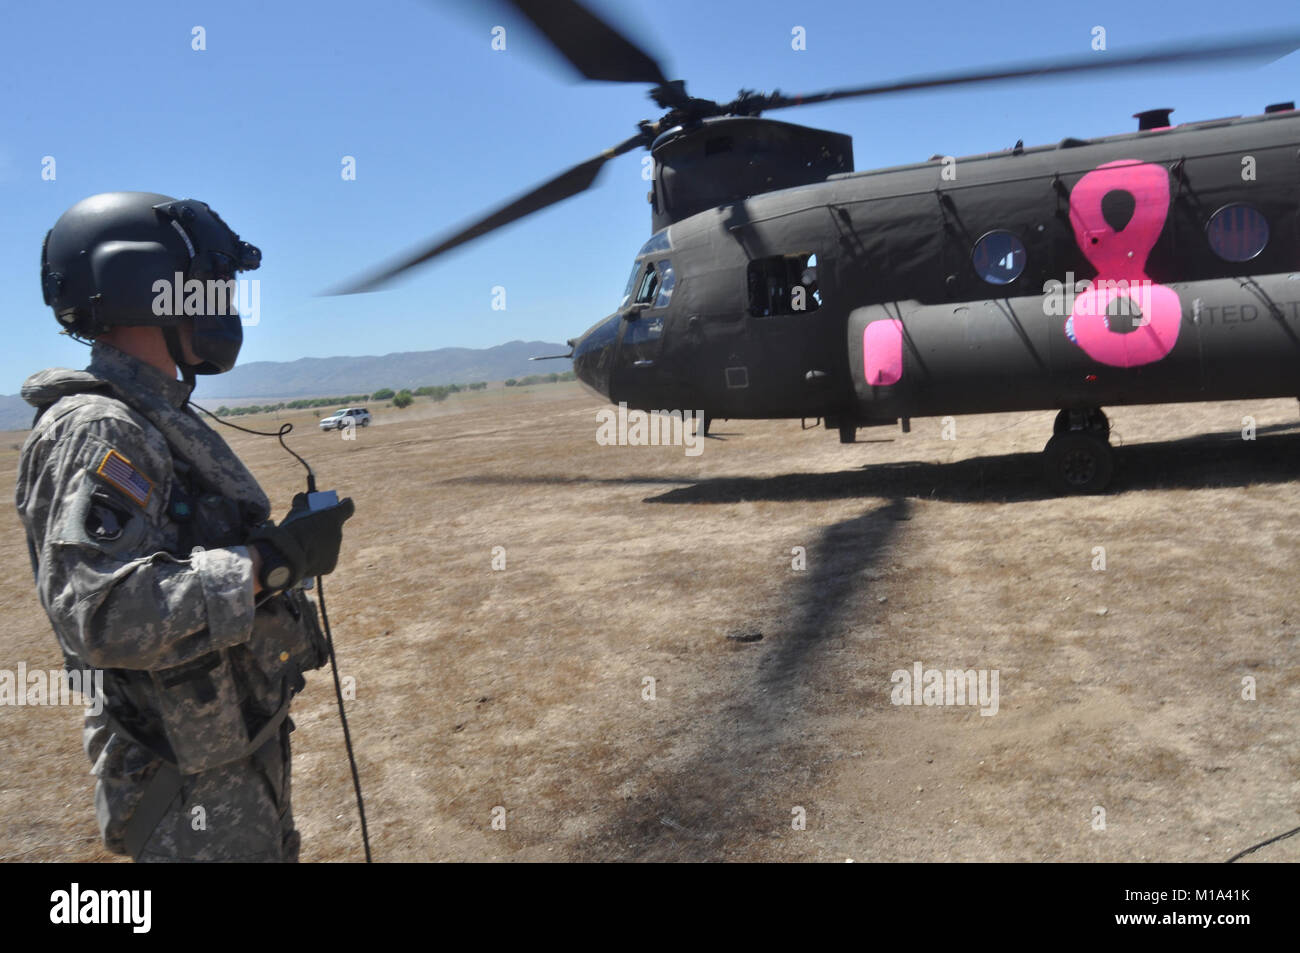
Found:
[{"label": "camouflage jacket with US flag patch worn by the soldier", "polygon": [[[190,386],[109,345],[86,371],[34,374],[18,515],[69,666],[104,671],[84,748],[109,849],[150,781],[248,757],[324,663],[300,590],[255,606],[242,545],[269,503],[186,407]],[[160,771],[161,767],[161,771]],[[156,800],[156,798],[155,798]]]}]

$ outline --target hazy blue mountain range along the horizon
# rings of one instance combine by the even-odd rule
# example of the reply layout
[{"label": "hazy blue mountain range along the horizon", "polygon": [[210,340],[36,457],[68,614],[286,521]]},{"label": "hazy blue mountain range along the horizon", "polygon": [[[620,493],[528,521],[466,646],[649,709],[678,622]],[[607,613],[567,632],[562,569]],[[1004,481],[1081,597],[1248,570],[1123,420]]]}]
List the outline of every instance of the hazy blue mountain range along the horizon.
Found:
[{"label": "hazy blue mountain range along the horizon", "polygon": [[[226,374],[200,377],[195,399],[344,397],[369,394],[380,387],[402,390],[437,384],[504,381],[511,377],[571,371],[567,360],[529,361],[529,358],[564,354],[566,345],[511,341],[495,347],[439,347],[363,358],[300,358],[255,360]],[[32,407],[21,397],[0,397],[0,430],[31,426]]]}]

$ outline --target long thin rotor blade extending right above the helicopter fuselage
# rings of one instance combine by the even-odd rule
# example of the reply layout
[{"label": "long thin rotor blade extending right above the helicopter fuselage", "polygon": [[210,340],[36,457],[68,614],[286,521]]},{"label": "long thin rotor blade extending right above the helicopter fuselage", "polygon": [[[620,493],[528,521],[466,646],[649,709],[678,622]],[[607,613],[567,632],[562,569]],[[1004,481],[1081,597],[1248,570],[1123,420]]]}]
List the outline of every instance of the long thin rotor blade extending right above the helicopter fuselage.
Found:
[{"label": "long thin rotor blade extending right above the helicopter fuselage", "polygon": [[1212,61],[1226,60],[1258,60],[1265,57],[1280,59],[1287,53],[1300,48],[1300,34],[1273,34],[1268,36],[1239,38],[1228,43],[1190,43],[1174,47],[1161,47],[1136,53],[1093,53],[1070,60],[1044,60],[1039,62],[1022,64],[1018,66],[1001,66],[992,70],[979,70],[975,73],[942,73],[928,77],[913,77],[878,86],[861,86],[855,88],[827,90],[805,96],[786,96],[774,92],[771,96],[751,98],[759,108],[785,109],[796,105],[811,105],[814,103],[831,103],[838,99],[855,99],[861,96],[883,96],[896,92],[911,92],[915,90],[933,90],[948,86],[970,86],[974,83],[988,83],[1005,79],[1023,79],[1028,77],[1063,75],[1070,73],[1102,73],[1106,70],[1141,69],[1152,66],[1200,66]]}]

